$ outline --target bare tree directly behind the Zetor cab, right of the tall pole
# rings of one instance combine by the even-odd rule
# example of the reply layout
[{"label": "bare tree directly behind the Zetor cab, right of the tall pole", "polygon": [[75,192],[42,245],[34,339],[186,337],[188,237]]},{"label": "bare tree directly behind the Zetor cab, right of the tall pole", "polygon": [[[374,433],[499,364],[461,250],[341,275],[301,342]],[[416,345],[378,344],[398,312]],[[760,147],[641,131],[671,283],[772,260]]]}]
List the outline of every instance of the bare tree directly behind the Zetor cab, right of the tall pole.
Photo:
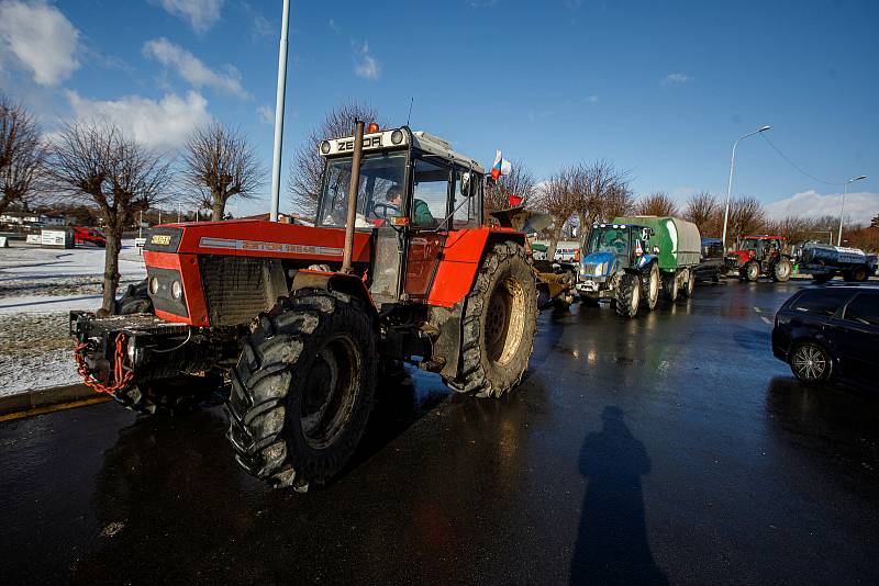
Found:
[{"label": "bare tree directly behind the Zetor cab, right of the tall pole", "polygon": [[318,192],[323,173],[323,158],[318,153],[318,145],[326,138],[351,135],[355,120],[376,122],[381,126],[386,124],[379,120],[378,111],[372,106],[361,102],[346,102],[327,112],[323,122],[309,133],[293,155],[287,190],[291,205],[299,213],[309,217],[316,215]]}]

